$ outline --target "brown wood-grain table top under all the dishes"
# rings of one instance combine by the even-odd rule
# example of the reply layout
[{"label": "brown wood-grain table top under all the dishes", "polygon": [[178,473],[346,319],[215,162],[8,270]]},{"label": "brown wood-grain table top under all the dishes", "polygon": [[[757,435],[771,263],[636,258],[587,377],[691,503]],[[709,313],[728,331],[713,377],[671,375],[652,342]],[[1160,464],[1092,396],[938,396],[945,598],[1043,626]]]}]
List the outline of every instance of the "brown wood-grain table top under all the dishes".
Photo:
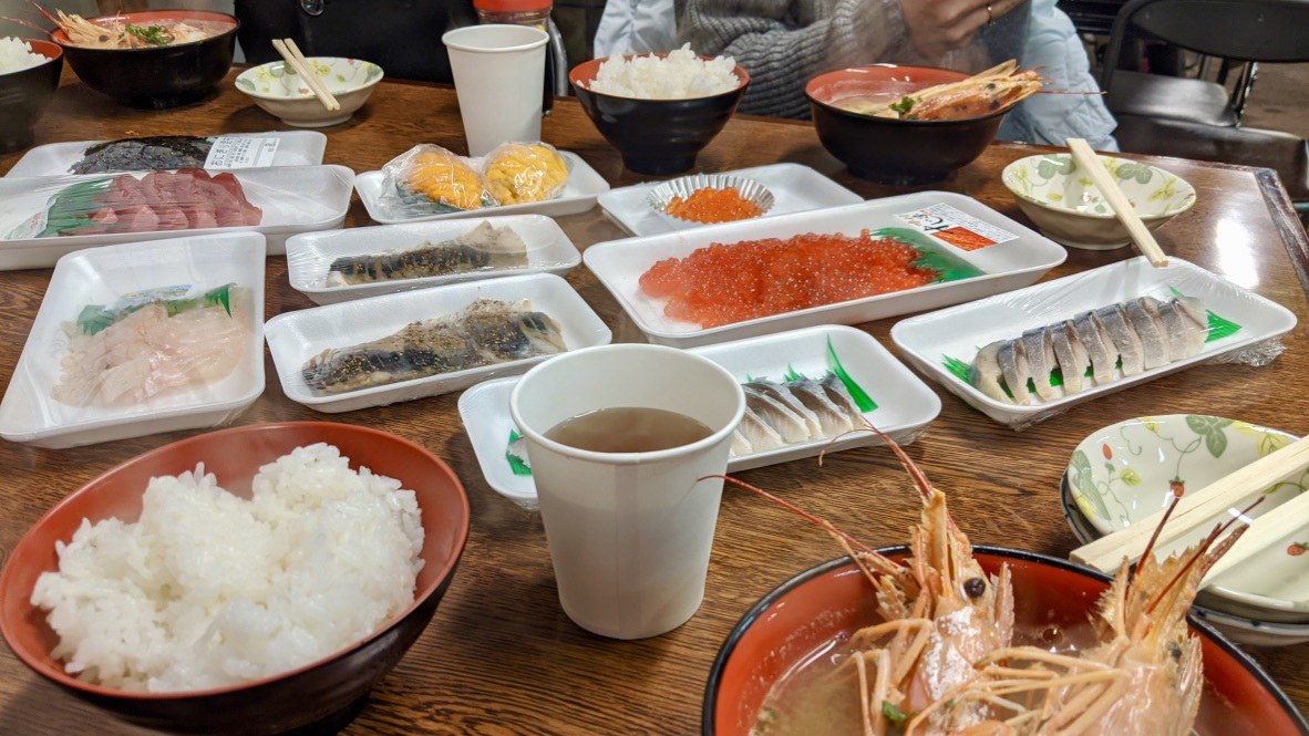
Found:
[{"label": "brown wood-grain table top under all the dishes", "polygon": [[[38,142],[131,135],[217,133],[279,128],[278,120],[230,88],[203,105],[141,112],[96,97],[67,80],[41,123]],[[326,162],[356,171],[380,167],[421,141],[462,150],[454,94],[448,89],[384,82],[369,105],[344,125],[330,128]],[[617,153],[572,101],[546,120],[547,141],[583,156],[615,187],[641,180],[623,170]],[[944,188],[974,196],[1024,220],[1000,183],[1001,167],[1034,149],[996,144]],[[0,173],[17,156],[0,158]],[[833,175],[867,197],[898,193],[852,179],[829,157],[810,125],[736,119],[700,156],[704,171],[797,161]],[[940,418],[910,455],[944,489],[954,518],[974,543],[1066,556],[1076,540],[1059,509],[1059,477],[1073,447],[1093,430],[1140,414],[1212,412],[1295,433],[1309,431],[1309,399],[1295,387],[1309,374],[1302,336],[1309,238],[1270,171],[1164,162],[1191,182],[1195,208],[1158,233],[1172,254],[1249,286],[1291,309],[1301,327],[1287,353],[1267,367],[1215,365],[1183,371],[1098,399],[1022,433],[1014,433],[932,388]],[[367,225],[353,204],[347,225]],[[598,209],[560,220],[586,247],[620,235]],[[1127,256],[1069,251],[1059,277]],[[8,384],[41,303],[50,271],[0,275],[0,383]],[[613,328],[617,341],[640,332],[585,269],[568,281]],[[313,306],[291,289],[281,258],[268,260],[267,315]],[[864,326],[885,345],[894,320]],[[268,360],[268,376],[275,376]],[[330,418],[394,431],[441,455],[462,478],[473,531],[458,574],[431,626],[373,692],[347,733],[694,733],[709,664],[737,618],[792,575],[838,556],[826,535],[759,499],[725,492],[704,605],[681,629],[643,642],[617,642],[575,626],[555,594],[541,518],[492,492],[482,478],[450,393]],[[240,422],[326,418],[289,401],[268,383]],[[190,433],[46,451],[0,443],[0,550],[8,552],[51,505],[97,473]],[[784,494],[863,541],[907,539],[918,518],[916,494],[885,448],[840,452],[823,467],[813,460],[741,475]],[[1309,706],[1304,648],[1255,651],[1300,707]],[[0,652],[0,733],[144,733],[106,719],[88,705],[30,673],[8,648]]]}]

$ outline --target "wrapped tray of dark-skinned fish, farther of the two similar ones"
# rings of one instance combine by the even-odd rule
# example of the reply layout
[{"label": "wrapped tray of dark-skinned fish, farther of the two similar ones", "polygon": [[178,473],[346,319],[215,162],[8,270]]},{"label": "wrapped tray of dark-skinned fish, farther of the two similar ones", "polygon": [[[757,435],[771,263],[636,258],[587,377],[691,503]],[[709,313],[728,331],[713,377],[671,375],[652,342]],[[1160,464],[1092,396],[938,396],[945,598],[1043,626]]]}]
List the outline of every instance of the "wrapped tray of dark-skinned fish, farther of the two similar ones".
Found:
[{"label": "wrapped tray of dark-skinned fish, farther of the two similar ones", "polygon": [[287,242],[291,285],[319,305],[509,273],[564,273],[581,254],[541,214],[308,233]]}]

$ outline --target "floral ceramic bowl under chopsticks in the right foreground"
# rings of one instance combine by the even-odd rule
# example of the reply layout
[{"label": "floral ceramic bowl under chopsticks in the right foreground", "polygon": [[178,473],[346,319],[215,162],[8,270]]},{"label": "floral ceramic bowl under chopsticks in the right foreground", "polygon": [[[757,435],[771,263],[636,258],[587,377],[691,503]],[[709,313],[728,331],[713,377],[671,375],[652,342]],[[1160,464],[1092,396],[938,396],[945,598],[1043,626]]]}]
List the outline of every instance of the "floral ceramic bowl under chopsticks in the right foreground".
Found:
[{"label": "floral ceramic bowl under chopsticks in the right foreground", "polygon": [[[1144,519],[1174,493],[1203,489],[1296,438],[1284,431],[1203,414],[1139,417],[1110,425],[1084,439],[1068,463],[1073,501],[1100,535]],[[1270,485],[1250,516],[1259,516],[1304,493],[1309,471]],[[1217,522],[1217,519],[1215,519]],[[1196,531],[1160,553],[1199,541]],[[1257,621],[1309,622],[1309,519],[1267,550],[1219,575],[1198,603]]]}]

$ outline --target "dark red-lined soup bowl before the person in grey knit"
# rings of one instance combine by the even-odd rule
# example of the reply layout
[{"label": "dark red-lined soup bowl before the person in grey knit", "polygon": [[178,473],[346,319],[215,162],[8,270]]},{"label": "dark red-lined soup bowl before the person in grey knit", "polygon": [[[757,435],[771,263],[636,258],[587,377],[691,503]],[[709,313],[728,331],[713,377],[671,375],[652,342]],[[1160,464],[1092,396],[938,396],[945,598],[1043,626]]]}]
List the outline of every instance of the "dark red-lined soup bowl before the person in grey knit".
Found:
[{"label": "dark red-lined soup bowl before the person in grey knit", "polygon": [[805,85],[805,97],[818,140],[851,174],[884,184],[931,184],[982,156],[1009,109],[962,120],[899,120],[851,112],[842,103],[877,95],[890,101],[967,77],[933,67],[874,64],[819,75]]}]

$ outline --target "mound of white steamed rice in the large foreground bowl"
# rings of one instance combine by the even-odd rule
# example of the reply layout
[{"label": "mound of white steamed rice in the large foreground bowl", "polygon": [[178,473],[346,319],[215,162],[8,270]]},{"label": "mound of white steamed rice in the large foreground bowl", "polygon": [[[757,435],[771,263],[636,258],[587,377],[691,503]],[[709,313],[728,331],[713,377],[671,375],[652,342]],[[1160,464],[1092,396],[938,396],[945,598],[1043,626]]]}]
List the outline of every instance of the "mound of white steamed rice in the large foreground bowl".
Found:
[{"label": "mound of white steamed rice in the large foreground bowl", "polygon": [[152,478],[140,520],[82,520],[33,605],[54,656],[124,690],[221,688],[322,659],[414,603],[414,492],[325,443],[259,469],[249,501],[194,473]]}]

